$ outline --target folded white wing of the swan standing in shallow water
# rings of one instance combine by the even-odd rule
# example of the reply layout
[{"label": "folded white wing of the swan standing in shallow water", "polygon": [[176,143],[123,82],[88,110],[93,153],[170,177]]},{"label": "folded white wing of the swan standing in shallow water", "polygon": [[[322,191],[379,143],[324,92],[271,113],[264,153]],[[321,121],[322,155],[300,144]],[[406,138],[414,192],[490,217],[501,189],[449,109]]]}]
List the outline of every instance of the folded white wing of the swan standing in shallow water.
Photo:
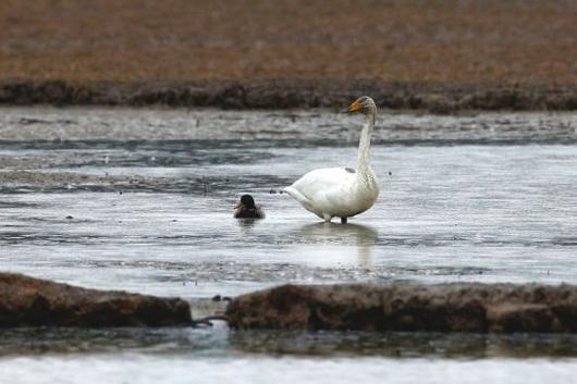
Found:
[{"label": "folded white wing of the swan standing in shallow water", "polygon": [[306,209],[319,214],[319,208],[332,203],[334,197],[349,188],[355,173],[351,168],[323,168],[310,171],[285,190]]}]

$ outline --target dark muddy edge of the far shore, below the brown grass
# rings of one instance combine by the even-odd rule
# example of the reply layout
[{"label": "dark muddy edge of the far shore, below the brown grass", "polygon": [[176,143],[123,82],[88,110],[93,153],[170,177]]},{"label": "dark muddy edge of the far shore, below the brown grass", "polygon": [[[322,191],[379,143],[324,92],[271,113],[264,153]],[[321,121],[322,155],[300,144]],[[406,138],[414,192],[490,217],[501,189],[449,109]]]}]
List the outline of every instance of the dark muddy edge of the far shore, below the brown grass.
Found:
[{"label": "dark muddy edge of the far shore, below the brown grass", "polygon": [[170,106],[223,109],[342,108],[370,95],[381,108],[450,113],[459,110],[577,110],[574,87],[439,86],[375,82],[0,82],[0,104]]}]

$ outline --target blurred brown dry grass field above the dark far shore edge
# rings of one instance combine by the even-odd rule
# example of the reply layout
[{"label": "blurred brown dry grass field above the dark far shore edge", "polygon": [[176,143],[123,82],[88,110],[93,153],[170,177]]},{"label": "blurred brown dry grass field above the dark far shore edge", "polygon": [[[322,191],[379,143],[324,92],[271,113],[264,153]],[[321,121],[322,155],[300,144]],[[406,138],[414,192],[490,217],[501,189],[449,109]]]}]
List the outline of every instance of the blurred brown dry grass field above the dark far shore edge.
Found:
[{"label": "blurred brown dry grass field above the dark far shore edge", "polygon": [[577,85],[575,0],[2,0],[0,78]]}]

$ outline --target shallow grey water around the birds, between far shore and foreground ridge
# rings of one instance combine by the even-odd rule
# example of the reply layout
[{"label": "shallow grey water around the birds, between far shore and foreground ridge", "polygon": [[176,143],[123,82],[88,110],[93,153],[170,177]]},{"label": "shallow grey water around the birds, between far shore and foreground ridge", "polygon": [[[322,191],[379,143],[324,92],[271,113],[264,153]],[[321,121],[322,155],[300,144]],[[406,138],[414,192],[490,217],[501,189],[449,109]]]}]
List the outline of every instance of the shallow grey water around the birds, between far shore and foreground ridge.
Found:
[{"label": "shallow grey water around the birds, between far shore and foreground ridge", "polygon": [[[1,270],[183,298],[279,283],[572,283],[572,113],[384,112],[375,207],[323,225],[279,191],[354,165],[328,110],[5,108]],[[267,220],[232,220],[250,193]],[[175,249],[177,251],[175,251]]]}]

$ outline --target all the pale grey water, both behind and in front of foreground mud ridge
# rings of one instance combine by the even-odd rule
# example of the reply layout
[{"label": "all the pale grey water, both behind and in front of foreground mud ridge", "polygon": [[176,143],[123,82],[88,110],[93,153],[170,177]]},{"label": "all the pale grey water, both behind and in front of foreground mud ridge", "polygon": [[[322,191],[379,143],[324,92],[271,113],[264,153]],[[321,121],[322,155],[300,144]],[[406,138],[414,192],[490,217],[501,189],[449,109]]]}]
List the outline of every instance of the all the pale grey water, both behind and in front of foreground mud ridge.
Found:
[{"label": "all the pale grey water, both behind and in front of foreground mud ridge", "polygon": [[[192,300],[286,282],[577,283],[576,114],[381,115],[377,205],[319,223],[279,191],[354,166],[358,124],[331,111],[2,109],[0,270]],[[244,193],[266,220],[231,219]],[[577,369],[568,336],[110,332],[0,331],[0,369],[11,383],[537,383]]]}]

